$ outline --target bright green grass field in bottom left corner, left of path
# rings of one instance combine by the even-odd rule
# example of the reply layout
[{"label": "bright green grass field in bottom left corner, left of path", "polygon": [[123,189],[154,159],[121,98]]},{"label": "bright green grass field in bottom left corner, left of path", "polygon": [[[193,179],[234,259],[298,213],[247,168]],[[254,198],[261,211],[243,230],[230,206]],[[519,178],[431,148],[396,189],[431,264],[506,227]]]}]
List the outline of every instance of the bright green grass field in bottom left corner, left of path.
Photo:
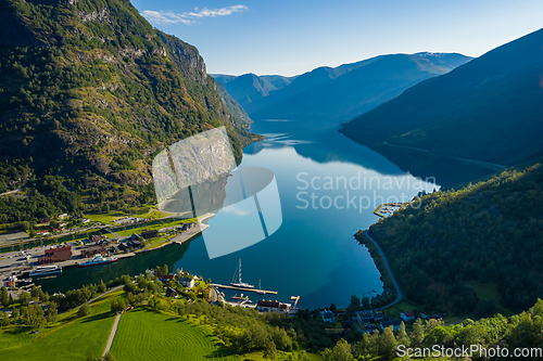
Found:
[{"label": "bright green grass field in bottom left corner, left of path", "polygon": [[92,304],[88,317],[77,319],[75,311],[67,312],[39,334],[30,333],[28,327],[3,328],[0,332],[0,359],[71,361],[86,360],[91,354],[102,356],[113,326],[114,315],[110,311],[110,302],[115,295]]}]

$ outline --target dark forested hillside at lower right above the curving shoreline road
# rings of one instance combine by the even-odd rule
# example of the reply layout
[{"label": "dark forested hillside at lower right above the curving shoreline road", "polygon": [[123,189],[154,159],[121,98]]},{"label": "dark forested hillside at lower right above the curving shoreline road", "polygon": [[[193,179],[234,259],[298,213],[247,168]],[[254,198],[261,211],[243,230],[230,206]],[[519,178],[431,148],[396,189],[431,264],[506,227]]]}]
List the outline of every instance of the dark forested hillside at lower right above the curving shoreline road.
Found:
[{"label": "dark forested hillside at lower right above the curving shoreline road", "polygon": [[542,192],[542,165],[506,170],[426,195],[368,234],[413,301],[456,314],[526,310],[543,296]]}]

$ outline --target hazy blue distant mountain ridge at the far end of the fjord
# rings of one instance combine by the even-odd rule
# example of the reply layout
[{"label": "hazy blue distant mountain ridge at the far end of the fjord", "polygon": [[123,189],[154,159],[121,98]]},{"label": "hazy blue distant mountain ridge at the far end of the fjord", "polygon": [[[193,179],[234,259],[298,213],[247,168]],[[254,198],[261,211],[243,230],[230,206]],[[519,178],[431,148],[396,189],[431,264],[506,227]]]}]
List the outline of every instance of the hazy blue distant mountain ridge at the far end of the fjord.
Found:
[{"label": "hazy blue distant mountain ridge at the far end of the fjord", "polygon": [[225,85],[253,119],[345,121],[469,60],[456,53],[422,52],[379,55],[338,67],[323,66],[289,78],[254,74],[212,76]]}]

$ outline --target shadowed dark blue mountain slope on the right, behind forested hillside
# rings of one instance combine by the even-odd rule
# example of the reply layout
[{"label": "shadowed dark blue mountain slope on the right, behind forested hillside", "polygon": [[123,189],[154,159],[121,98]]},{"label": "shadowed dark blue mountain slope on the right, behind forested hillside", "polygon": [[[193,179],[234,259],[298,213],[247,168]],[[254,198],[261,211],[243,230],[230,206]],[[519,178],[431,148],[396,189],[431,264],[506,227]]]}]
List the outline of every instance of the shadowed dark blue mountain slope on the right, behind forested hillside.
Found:
[{"label": "shadowed dark blue mountain slope on the right, behind forested hillside", "polygon": [[363,144],[506,166],[543,153],[543,29],[426,80],[341,130]]}]

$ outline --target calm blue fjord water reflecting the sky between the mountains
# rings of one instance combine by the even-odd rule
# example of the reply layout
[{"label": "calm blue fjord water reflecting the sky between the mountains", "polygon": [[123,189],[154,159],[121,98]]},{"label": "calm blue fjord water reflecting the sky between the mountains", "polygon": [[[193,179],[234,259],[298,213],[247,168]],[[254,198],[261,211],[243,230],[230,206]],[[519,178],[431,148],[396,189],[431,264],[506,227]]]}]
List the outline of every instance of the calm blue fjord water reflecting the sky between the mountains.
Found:
[{"label": "calm blue fjord water reflecting the sky between the mountains", "polygon": [[[209,220],[203,236],[190,243],[100,268],[65,269],[58,278],[37,283],[50,293],[65,292],[166,263],[171,270],[182,268],[215,283],[229,284],[241,258],[243,282],[255,286],[261,283],[262,288],[278,292],[266,299],[288,301],[291,296],[301,296],[303,307],[331,302],[344,307],[353,294],[362,298],[381,293],[380,273],[353,234],[378,221],[374,210],[379,204],[407,201],[421,190],[431,192],[439,185],[417,180],[337,128],[330,123],[296,120],[253,125],[252,131],[266,139],[244,149],[240,167],[264,167],[275,173],[282,210],[282,224],[262,242],[210,259],[204,238],[220,242],[222,230],[232,225],[231,215],[219,210]],[[247,224],[240,216],[236,227],[238,236],[243,237]],[[233,293],[226,294],[229,298]],[[263,297],[245,294],[253,300]]]}]

